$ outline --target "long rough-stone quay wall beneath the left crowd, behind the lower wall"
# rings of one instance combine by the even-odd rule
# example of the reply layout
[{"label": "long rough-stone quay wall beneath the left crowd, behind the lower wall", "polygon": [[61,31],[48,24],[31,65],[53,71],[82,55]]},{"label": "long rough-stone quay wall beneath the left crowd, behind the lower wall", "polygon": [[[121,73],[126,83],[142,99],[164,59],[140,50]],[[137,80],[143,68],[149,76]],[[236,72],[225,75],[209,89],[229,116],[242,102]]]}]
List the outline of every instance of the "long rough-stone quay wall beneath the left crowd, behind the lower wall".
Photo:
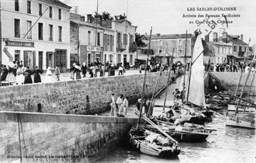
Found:
[{"label": "long rough-stone quay wall beneath the left crowd, behind the lower wall", "polygon": [[[157,75],[147,73],[146,97],[152,95]],[[157,90],[167,84],[167,78],[168,73],[163,72]],[[0,87],[0,111],[101,113],[110,109],[112,93],[127,96],[130,104],[137,101],[143,79],[144,74],[137,74]]]}]

